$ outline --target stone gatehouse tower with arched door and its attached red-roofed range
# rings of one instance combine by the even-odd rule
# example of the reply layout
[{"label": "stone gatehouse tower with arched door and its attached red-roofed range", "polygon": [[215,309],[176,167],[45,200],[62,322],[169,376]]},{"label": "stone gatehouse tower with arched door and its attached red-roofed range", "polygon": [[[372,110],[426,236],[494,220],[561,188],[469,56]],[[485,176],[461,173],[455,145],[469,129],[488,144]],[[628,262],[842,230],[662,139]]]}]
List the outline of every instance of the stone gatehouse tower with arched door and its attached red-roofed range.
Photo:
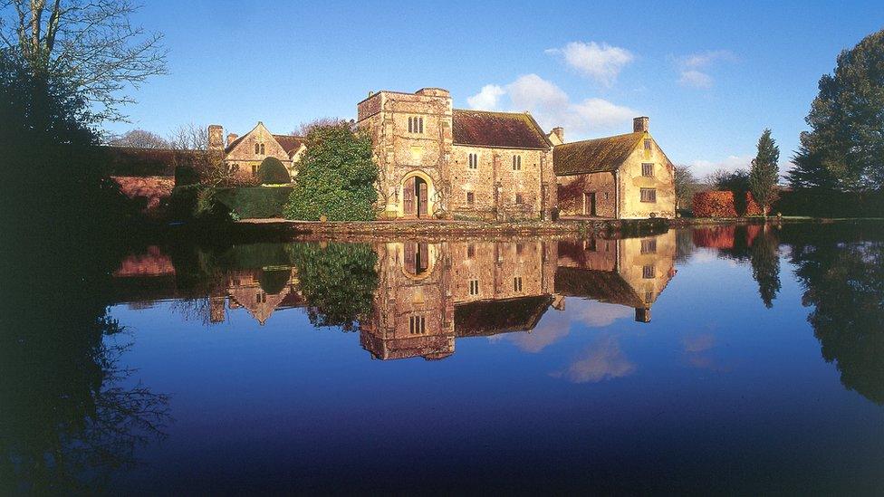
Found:
[{"label": "stone gatehouse tower with arched door and its attached red-roofed range", "polygon": [[388,218],[537,218],[555,203],[552,143],[527,114],[452,109],[446,90],[380,91],[358,106]]}]

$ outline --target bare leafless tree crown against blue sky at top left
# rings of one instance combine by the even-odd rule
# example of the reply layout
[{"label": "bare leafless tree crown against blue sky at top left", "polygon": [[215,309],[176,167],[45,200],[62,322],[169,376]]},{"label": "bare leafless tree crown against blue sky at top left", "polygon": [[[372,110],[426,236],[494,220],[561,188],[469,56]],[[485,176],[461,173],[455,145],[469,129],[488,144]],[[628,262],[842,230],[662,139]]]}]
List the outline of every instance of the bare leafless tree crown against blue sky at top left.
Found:
[{"label": "bare leafless tree crown against blue sky at top left", "polygon": [[162,34],[130,24],[138,10],[130,0],[0,0],[0,46],[34,76],[82,91],[96,121],[125,120],[125,91],[167,72]]}]

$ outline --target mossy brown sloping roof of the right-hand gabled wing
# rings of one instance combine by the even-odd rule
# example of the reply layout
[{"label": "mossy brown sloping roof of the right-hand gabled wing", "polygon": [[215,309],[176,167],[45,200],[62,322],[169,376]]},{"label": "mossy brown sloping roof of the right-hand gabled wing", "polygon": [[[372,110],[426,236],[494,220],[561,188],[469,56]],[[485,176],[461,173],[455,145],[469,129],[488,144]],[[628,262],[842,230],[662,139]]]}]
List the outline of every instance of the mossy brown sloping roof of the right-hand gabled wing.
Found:
[{"label": "mossy brown sloping roof of the right-hand gabled wing", "polygon": [[558,145],[552,149],[552,169],[558,176],[616,171],[644,136],[627,133]]}]

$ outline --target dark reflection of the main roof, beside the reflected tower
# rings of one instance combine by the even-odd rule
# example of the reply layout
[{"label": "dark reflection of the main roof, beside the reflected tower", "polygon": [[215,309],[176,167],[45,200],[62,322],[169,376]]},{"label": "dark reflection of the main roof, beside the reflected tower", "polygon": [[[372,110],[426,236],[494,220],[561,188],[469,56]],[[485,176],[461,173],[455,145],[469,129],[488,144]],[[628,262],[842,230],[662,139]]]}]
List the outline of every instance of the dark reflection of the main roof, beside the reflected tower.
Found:
[{"label": "dark reflection of the main roof, beside the reflected tower", "polygon": [[476,337],[504,331],[533,330],[551,303],[552,295],[539,295],[457,304],[455,334],[458,337]]}]

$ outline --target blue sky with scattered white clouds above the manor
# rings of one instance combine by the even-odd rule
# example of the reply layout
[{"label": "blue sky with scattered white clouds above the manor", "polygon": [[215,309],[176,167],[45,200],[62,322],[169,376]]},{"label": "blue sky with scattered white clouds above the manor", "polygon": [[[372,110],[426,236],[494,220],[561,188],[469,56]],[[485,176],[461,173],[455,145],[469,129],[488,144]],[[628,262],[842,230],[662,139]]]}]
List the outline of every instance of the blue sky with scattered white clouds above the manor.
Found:
[{"label": "blue sky with scattered white clouds above the manor", "polygon": [[145,83],[132,128],[276,133],[354,118],[369,91],[451,91],[458,108],[529,110],[567,140],[629,132],[635,115],[699,176],[748,165],[765,127],[781,168],[835,57],[884,28],[880,2],[312,2],[154,0],[169,74]]}]

